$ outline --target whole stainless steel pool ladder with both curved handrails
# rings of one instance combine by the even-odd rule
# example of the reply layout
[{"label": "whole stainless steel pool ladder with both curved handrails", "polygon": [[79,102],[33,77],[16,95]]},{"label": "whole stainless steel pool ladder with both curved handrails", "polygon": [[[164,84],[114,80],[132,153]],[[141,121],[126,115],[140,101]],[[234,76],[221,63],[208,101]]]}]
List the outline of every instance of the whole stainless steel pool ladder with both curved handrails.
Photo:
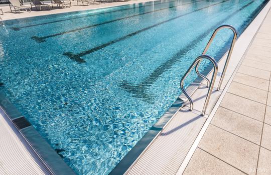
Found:
[{"label": "whole stainless steel pool ladder with both curved handrails", "polygon": [[[225,76],[225,71],[227,70],[228,63],[229,63],[229,60],[230,60],[230,57],[231,57],[231,53],[232,53],[232,50],[233,50],[233,47],[234,47],[234,44],[235,44],[235,41],[236,41],[236,38],[237,38],[237,32],[236,32],[235,28],[233,26],[231,26],[231,25],[221,25],[221,26],[219,26],[219,27],[217,27],[215,29],[215,31],[213,32],[213,34],[212,34],[210,40],[208,41],[206,47],[204,48],[204,50],[202,52],[202,55],[198,56],[194,60],[194,62],[191,64],[191,66],[189,67],[189,69],[186,71],[186,73],[184,74],[184,76],[182,77],[181,82],[180,82],[181,89],[182,89],[183,93],[185,94],[185,96],[188,98],[189,103],[190,103],[190,110],[192,111],[193,107],[194,107],[193,99],[189,96],[189,94],[184,89],[184,80],[188,76],[188,74],[191,72],[192,68],[194,68],[196,66],[195,67],[196,73],[200,77],[202,77],[203,79],[205,79],[207,81],[207,87],[209,87],[209,88],[208,88],[207,96],[206,96],[206,99],[205,99],[205,102],[204,102],[204,105],[203,105],[203,109],[202,109],[202,113],[201,113],[202,116],[205,115],[206,108],[207,108],[209,100],[210,100],[210,96],[211,96],[211,93],[212,93],[212,89],[214,87],[214,82],[215,82],[216,75],[217,75],[217,70],[218,70],[218,65],[217,65],[216,60],[214,58],[212,58],[211,56],[205,55],[205,53],[207,52],[209,46],[211,45],[211,43],[212,43],[212,41],[213,41],[216,33],[220,29],[222,29],[222,28],[229,28],[229,29],[231,29],[234,35],[233,35],[233,38],[232,38],[232,41],[231,41],[231,45],[230,45],[229,52],[228,52],[228,55],[227,55],[227,58],[226,58],[226,62],[225,62],[224,67],[223,67],[221,78],[220,78],[218,86],[217,86],[217,90],[218,91],[220,90],[222,81],[223,81],[224,76]],[[202,59],[208,59],[213,64],[213,69],[214,70],[213,70],[213,75],[212,75],[211,81],[205,75],[201,74],[199,72],[199,70],[198,70],[199,64],[201,63]]]}]

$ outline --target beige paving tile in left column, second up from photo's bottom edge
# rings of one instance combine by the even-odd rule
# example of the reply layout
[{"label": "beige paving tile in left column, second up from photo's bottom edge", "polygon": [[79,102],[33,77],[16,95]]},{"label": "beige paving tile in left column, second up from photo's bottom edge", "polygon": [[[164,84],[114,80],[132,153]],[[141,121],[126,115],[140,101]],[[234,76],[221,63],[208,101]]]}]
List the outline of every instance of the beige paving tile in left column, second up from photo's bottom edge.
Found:
[{"label": "beige paving tile in left column, second up from photo's bottom edge", "polygon": [[248,174],[254,174],[250,168],[256,168],[259,146],[250,141],[209,125],[199,147]]}]

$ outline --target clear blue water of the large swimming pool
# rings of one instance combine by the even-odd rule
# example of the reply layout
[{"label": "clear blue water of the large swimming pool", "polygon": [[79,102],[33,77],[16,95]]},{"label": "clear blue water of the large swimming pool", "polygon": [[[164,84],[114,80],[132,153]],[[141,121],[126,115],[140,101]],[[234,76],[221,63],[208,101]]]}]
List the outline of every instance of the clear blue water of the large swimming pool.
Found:
[{"label": "clear blue water of the large swimming pool", "polygon": [[[240,34],[266,2],[155,1],[6,21],[0,88],[75,172],[107,174],[176,100],[213,30]],[[229,36],[208,54],[218,60]]]}]

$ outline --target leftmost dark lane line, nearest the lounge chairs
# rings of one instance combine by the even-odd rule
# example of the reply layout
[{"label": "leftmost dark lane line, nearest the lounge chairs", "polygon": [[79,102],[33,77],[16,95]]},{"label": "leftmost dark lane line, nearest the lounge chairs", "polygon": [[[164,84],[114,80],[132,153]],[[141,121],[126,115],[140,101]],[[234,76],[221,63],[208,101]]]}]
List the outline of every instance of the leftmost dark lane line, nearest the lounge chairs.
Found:
[{"label": "leftmost dark lane line, nearest the lounge chairs", "polygon": [[118,10],[107,11],[107,12],[98,13],[98,14],[89,14],[89,15],[86,15],[86,16],[73,17],[73,18],[69,18],[69,19],[55,20],[55,21],[51,21],[51,22],[45,22],[45,23],[39,23],[39,24],[33,24],[33,25],[26,25],[26,26],[21,26],[21,27],[11,27],[11,29],[13,29],[15,31],[19,31],[21,28],[27,28],[27,27],[38,26],[38,25],[45,25],[45,24],[49,24],[49,23],[61,22],[61,21],[72,20],[72,19],[79,19],[79,18],[94,16],[94,15],[107,14],[107,13],[111,13],[111,12],[124,11],[124,10],[129,10],[129,9],[134,9],[134,8],[141,8],[141,7],[145,7],[145,6],[158,5],[158,4],[163,4],[163,3],[175,2],[175,1],[178,1],[178,0],[172,0],[172,1],[168,1],[168,2],[155,3],[155,4],[149,4],[149,5],[140,4],[140,6],[132,7],[132,8],[118,9]]}]

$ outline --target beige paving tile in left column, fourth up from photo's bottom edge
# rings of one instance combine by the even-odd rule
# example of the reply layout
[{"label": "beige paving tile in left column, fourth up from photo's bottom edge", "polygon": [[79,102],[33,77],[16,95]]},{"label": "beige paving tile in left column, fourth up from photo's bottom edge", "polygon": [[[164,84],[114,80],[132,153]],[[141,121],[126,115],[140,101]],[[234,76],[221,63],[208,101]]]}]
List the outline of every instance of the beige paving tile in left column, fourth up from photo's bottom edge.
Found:
[{"label": "beige paving tile in left column, fourth up from photo's bottom edge", "polygon": [[265,105],[231,93],[226,93],[220,106],[263,121]]}]

